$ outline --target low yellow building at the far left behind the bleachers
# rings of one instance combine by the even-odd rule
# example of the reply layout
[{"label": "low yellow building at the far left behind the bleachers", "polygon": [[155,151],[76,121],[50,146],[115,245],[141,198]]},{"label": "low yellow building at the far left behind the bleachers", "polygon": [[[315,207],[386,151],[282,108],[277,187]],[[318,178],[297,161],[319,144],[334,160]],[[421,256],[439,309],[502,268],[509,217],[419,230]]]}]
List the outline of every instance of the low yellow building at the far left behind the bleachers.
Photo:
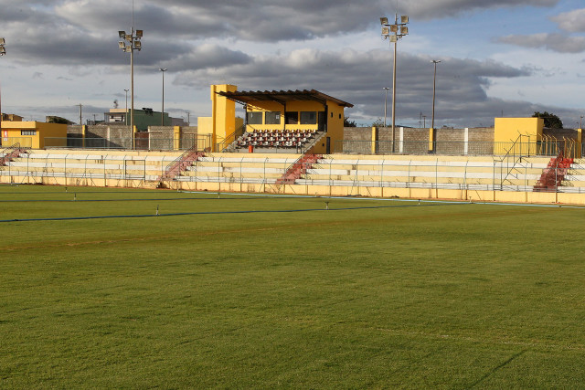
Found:
[{"label": "low yellow building at the far left behind the bleachers", "polygon": [[[35,135],[21,135],[21,131],[34,130]],[[7,135],[7,137],[6,137]],[[3,121],[2,140],[5,142],[19,142],[22,146],[33,149],[45,148],[45,137],[67,137],[67,125],[61,123],[45,123],[39,121]],[[7,140],[6,140],[7,138]]]}]

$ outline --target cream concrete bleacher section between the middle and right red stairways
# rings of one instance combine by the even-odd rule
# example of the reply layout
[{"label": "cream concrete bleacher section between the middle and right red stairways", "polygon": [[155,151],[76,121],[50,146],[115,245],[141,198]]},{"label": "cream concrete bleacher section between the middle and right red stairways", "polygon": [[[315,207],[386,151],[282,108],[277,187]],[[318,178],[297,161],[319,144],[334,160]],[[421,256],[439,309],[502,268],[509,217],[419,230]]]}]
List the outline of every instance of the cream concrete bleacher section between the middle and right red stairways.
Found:
[{"label": "cream concrete bleacher section between the middle and right red stairways", "polygon": [[536,184],[548,160],[527,158],[511,162],[498,161],[492,156],[334,154],[320,160],[297,183],[527,191]]}]

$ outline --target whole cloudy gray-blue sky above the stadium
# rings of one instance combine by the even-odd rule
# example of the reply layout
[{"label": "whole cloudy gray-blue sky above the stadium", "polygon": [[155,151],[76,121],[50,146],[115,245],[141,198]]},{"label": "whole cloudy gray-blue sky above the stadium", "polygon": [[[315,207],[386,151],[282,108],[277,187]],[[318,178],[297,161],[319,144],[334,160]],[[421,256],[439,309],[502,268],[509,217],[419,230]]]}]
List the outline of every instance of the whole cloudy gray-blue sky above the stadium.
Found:
[{"label": "whole cloudy gray-blue sky above the stadium", "polygon": [[[2,111],[27,120],[103,118],[125,105],[130,55],[118,31],[133,0],[0,0]],[[197,124],[210,115],[209,85],[239,90],[320,90],[355,105],[351,120],[384,116],[393,49],[379,17],[410,16],[399,41],[397,123],[429,125],[431,59],[436,125],[491,125],[496,116],[585,115],[583,0],[134,0],[135,107]],[[389,103],[388,95],[388,122]]]}]

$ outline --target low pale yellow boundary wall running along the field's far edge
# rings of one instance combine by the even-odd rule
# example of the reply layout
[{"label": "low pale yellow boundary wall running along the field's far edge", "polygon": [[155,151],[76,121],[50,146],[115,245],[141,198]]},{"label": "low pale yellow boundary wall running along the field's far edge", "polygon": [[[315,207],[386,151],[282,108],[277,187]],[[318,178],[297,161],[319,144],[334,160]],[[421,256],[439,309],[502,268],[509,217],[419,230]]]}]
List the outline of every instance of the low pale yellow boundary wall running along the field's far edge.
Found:
[{"label": "low pale yellow boundary wall running along the field's far edge", "polygon": [[[96,187],[154,188],[158,182],[119,178],[65,178],[13,175],[0,176],[2,184],[48,184]],[[209,182],[165,182],[165,188],[184,191],[264,193],[309,196],[399,197],[404,199],[441,199],[474,202],[571,204],[585,206],[585,194],[534,193],[514,191],[472,191],[441,188],[394,188],[348,185],[248,184]]]}]

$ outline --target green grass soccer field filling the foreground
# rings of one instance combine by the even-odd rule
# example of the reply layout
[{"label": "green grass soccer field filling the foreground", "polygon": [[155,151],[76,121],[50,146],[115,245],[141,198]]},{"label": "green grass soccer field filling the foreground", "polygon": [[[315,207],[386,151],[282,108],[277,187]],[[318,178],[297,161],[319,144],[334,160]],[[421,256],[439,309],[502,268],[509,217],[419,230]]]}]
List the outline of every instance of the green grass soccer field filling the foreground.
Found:
[{"label": "green grass soccer field filling the foreground", "polygon": [[24,185],[0,220],[3,388],[585,383],[585,208]]}]

